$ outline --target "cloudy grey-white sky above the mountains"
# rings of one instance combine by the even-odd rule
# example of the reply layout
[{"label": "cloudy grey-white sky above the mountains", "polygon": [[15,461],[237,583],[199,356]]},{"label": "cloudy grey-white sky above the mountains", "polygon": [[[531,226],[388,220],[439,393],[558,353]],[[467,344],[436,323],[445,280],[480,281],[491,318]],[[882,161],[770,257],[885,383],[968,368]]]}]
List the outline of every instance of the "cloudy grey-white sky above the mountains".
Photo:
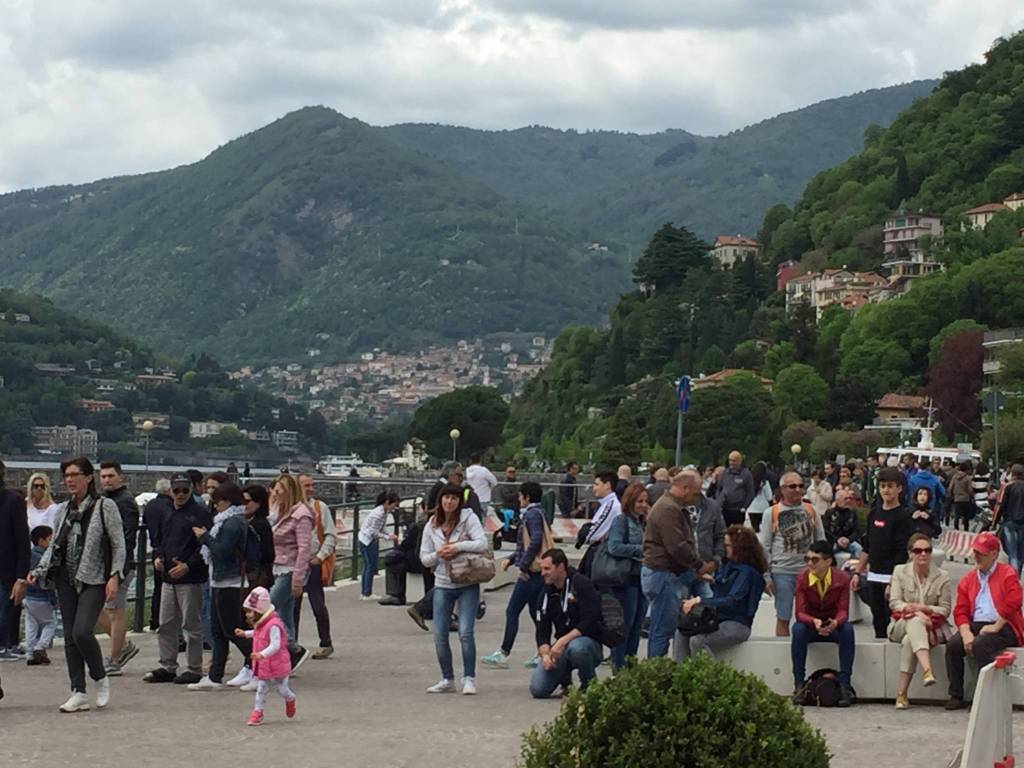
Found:
[{"label": "cloudy grey-white sky above the mountains", "polygon": [[0,191],[374,124],[715,134],[981,60],[1020,0],[0,0]]}]

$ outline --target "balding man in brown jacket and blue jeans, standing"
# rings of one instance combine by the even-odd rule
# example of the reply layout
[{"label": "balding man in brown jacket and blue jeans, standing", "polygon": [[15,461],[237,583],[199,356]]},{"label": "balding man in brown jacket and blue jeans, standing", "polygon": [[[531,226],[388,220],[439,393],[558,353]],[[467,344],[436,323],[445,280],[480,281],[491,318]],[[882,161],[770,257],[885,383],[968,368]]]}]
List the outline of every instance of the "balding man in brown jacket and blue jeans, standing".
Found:
[{"label": "balding man in brown jacket and blue jeans, standing", "polygon": [[640,586],[650,602],[648,658],[669,652],[683,599],[692,594],[700,560],[686,508],[699,503],[700,475],[685,470],[647,513]]}]

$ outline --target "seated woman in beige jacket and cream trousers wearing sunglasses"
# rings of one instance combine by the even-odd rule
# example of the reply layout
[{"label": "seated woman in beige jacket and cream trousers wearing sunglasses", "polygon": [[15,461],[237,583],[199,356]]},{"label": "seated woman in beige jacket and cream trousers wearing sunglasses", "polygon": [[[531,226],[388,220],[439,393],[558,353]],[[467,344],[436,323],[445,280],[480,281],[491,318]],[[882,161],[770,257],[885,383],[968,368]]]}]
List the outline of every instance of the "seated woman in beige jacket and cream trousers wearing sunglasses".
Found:
[{"label": "seated woman in beige jacket and cream trousers wearing sunglasses", "polygon": [[892,610],[889,639],[900,643],[897,710],[910,706],[907,690],[918,663],[922,682],[926,686],[935,684],[931,649],[952,634],[947,622],[952,610],[952,587],[949,574],[932,564],[931,537],[911,536],[907,553],[910,561],[893,568],[889,598]]}]

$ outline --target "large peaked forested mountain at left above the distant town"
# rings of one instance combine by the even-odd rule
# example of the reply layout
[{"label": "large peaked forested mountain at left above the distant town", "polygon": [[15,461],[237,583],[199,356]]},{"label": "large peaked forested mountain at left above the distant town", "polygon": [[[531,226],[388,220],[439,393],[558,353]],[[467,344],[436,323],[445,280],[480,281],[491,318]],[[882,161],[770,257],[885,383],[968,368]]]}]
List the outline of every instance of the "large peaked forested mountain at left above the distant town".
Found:
[{"label": "large peaked forested mountain at left above the distant town", "polygon": [[8,285],[219,359],[596,321],[625,257],[309,108],[189,166],[0,197]]}]

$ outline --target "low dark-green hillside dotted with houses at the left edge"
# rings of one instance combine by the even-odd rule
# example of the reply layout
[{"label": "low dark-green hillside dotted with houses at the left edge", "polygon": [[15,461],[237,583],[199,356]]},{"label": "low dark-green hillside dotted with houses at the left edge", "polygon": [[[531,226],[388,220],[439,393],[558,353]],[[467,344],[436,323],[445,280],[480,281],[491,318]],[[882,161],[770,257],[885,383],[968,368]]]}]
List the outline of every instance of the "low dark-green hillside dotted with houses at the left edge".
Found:
[{"label": "low dark-green hillside dotted with houses at the left edge", "polygon": [[[104,458],[140,460],[131,415],[141,412],[169,417],[166,428],[153,433],[154,445],[165,447],[257,453],[237,433],[189,445],[189,421],[294,429],[304,441],[326,434],[323,419],[241,387],[206,355],[157,355],[102,323],[8,289],[0,289],[0,454],[31,453],[33,427],[74,424],[96,430]],[[105,402],[87,410],[82,399]]]}]

